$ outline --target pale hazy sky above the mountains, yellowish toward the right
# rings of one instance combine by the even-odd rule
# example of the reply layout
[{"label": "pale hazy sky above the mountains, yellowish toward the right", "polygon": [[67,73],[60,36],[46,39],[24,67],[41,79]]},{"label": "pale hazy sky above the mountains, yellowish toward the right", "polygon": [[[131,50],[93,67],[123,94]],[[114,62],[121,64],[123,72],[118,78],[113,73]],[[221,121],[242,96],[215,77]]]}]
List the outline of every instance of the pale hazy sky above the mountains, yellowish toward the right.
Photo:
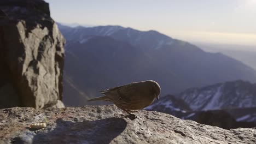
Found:
[{"label": "pale hazy sky above the mountains, yellowish toward the right", "polygon": [[46,2],[53,19],[63,23],[154,29],[190,42],[256,45],[256,0]]}]

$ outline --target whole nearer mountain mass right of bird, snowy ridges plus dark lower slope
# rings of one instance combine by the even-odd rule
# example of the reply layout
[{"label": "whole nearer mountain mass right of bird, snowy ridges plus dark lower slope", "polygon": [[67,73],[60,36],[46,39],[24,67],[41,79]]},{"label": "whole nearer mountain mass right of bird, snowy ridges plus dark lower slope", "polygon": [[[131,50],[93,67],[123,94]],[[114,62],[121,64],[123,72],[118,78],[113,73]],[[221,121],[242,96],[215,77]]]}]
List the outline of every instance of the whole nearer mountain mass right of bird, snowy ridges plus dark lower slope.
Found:
[{"label": "whole nearer mountain mass right of bird, snowy ridges plus dark lower slope", "polygon": [[256,83],[230,81],[166,95],[146,110],[225,129],[256,126]]}]

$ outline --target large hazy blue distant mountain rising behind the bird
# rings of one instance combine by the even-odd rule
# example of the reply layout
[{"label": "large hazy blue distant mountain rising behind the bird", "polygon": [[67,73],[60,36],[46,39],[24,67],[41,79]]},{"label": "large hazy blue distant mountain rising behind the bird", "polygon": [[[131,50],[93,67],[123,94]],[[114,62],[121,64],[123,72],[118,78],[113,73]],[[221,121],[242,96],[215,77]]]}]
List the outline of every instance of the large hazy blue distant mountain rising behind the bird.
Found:
[{"label": "large hazy blue distant mountain rising behind the bird", "polygon": [[[157,31],[120,26],[67,27],[63,101],[85,105],[97,91],[126,83],[155,80],[161,95],[218,82],[256,81],[256,71],[223,55],[210,53]],[[95,104],[95,103],[90,103]],[[99,103],[97,103],[99,104]]]}]

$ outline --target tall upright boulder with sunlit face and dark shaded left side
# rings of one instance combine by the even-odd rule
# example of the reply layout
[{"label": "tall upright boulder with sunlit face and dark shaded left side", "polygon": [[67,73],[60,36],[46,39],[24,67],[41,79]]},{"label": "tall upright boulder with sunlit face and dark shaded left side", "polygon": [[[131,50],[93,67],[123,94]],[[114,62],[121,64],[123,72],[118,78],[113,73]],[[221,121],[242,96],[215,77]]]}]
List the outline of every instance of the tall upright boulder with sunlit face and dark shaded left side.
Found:
[{"label": "tall upright boulder with sunlit face and dark shaded left side", "polygon": [[0,108],[63,106],[64,44],[48,3],[1,0]]}]

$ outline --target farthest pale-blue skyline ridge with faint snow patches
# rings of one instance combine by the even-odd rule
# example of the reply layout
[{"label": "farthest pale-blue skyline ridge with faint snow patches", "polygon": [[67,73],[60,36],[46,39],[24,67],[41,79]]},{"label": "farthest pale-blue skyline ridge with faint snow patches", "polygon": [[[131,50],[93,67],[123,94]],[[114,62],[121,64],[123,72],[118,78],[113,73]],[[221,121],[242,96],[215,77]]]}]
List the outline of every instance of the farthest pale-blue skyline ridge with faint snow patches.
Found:
[{"label": "farthest pale-blue skyline ridge with faint snow patches", "polygon": [[[61,33],[67,41],[79,41],[86,43],[89,39],[95,36],[109,36],[116,40],[126,41],[140,49],[154,50],[165,45],[185,45],[185,41],[176,40],[161,34],[157,31],[138,31],[130,27],[121,26],[96,26],[96,27],[65,27],[59,23]],[[191,44],[190,44],[191,45]],[[201,51],[198,47],[194,49]]]}]

